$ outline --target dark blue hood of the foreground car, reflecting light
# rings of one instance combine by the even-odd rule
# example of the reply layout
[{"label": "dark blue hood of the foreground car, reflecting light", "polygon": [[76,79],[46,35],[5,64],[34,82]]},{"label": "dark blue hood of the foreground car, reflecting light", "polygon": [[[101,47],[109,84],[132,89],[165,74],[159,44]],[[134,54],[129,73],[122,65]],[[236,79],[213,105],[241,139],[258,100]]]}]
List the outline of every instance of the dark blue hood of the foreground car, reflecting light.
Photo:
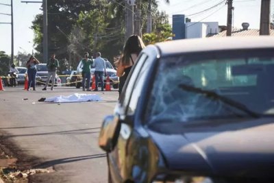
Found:
[{"label": "dark blue hood of the foreground car, reflecting light", "polygon": [[265,176],[274,172],[273,122],[162,123],[148,131],[172,171]]}]

